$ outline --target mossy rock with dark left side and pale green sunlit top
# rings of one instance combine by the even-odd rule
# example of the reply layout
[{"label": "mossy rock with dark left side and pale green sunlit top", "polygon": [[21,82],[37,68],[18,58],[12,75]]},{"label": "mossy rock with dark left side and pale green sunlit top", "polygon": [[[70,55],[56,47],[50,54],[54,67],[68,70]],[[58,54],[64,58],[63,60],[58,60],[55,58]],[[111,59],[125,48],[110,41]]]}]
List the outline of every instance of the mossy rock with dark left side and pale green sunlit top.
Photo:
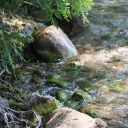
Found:
[{"label": "mossy rock with dark left side and pale green sunlit top", "polygon": [[74,92],[72,98],[74,98],[76,101],[84,101],[84,102],[92,101],[92,97],[87,92],[84,92],[82,90],[78,90]]}]

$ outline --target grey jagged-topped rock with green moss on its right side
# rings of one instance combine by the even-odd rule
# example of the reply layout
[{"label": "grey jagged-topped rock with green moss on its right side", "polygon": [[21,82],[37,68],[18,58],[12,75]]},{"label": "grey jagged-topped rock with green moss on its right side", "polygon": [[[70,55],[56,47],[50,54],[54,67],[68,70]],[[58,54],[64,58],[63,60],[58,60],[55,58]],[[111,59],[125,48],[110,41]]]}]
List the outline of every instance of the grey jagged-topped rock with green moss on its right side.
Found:
[{"label": "grey jagged-topped rock with green moss on its right side", "polygon": [[59,106],[59,101],[51,96],[42,96],[32,93],[28,102],[23,105],[23,110],[35,110],[40,115],[47,115]]}]

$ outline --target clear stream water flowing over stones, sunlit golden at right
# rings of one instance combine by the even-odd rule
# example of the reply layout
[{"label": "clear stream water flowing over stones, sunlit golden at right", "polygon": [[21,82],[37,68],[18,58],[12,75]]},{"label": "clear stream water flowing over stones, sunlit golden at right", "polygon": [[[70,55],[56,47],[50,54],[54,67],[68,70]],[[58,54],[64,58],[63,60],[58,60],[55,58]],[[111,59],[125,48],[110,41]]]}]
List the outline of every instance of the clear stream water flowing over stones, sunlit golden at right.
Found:
[{"label": "clear stream water flowing over stones, sunlit golden at right", "polygon": [[[61,90],[68,97],[61,106],[81,112],[92,108],[109,127],[128,128],[128,0],[94,2],[88,16],[89,26],[72,38],[79,51],[78,58],[73,62],[36,63],[18,68],[19,80],[14,85],[27,93],[55,97]],[[62,83],[66,81],[68,86],[62,88],[48,82],[51,74],[60,76],[58,79]],[[83,81],[91,86],[84,90],[92,97],[88,102],[73,98],[73,93],[81,89],[78,83]]]}]

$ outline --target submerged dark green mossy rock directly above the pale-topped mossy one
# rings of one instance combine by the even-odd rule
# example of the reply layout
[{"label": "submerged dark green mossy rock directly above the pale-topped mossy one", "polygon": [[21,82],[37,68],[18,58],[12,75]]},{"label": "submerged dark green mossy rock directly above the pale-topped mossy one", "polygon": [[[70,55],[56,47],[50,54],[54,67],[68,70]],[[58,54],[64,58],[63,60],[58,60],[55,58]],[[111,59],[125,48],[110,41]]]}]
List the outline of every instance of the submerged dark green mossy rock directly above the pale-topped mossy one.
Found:
[{"label": "submerged dark green mossy rock directly above the pale-topped mossy one", "polygon": [[76,85],[78,85],[79,88],[83,91],[87,91],[91,87],[91,84],[88,81],[84,81],[84,80],[77,81]]}]

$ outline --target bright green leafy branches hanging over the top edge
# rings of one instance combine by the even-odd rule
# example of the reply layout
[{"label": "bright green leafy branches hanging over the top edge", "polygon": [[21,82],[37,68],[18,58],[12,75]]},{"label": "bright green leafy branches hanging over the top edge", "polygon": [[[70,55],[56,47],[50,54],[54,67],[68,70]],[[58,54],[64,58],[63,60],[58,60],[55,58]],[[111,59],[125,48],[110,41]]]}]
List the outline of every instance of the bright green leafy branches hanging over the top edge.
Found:
[{"label": "bright green leafy branches hanging over the top edge", "polygon": [[[93,0],[1,0],[0,7],[6,12],[18,12],[22,5],[44,8],[48,14],[48,21],[57,26],[54,16],[58,19],[70,20],[79,13],[83,16],[83,22],[87,19],[87,11],[91,9]],[[19,8],[17,8],[19,7]],[[24,6],[26,7],[26,6]]]}]

